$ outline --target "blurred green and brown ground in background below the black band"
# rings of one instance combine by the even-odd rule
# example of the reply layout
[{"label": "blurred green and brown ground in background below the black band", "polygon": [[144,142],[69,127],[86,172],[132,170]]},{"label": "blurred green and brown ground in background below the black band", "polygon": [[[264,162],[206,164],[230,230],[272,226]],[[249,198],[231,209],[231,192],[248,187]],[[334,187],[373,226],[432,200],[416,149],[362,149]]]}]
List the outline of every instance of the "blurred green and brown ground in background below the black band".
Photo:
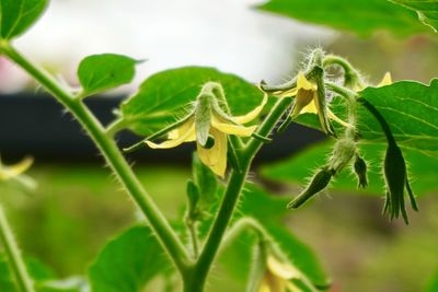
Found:
[{"label": "blurred green and brown ground in background below the black band", "polygon": [[[189,171],[157,165],[136,168],[166,215],[180,218]],[[138,220],[134,203],[124,199],[125,194],[103,167],[46,165],[36,166],[31,175],[39,183],[35,194],[1,187],[1,200],[9,207],[22,248],[53,266],[61,277],[84,273],[108,238]],[[267,186],[278,189],[276,185]],[[336,199],[322,196],[311,208],[287,213],[283,207],[289,196],[268,199],[264,192],[249,190],[240,212],[254,210],[252,203],[262,205],[264,208],[253,215],[270,222],[281,220],[297,237],[310,243],[335,281],[333,291],[422,291],[427,284],[424,276],[431,275],[438,266],[436,197],[419,200],[422,211],[410,214],[411,225],[406,227],[399,222],[389,224],[380,214],[381,202],[374,198],[332,191]],[[252,195],[258,198],[245,203],[245,197]],[[272,215],[275,212],[277,217]],[[280,219],[283,214],[290,215]],[[241,247],[249,244],[245,236],[238,242]],[[242,279],[228,268],[233,266],[229,260],[240,255],[239,249],[223,252],[210,277],[215,289],[209,291],[242,290]],[[234,261],[235,267],[251,258],[252,252],[247,252],[247,257],[242,254],[242,260]],[[157,279],[151,284],[162,287],[162,281]]]}]

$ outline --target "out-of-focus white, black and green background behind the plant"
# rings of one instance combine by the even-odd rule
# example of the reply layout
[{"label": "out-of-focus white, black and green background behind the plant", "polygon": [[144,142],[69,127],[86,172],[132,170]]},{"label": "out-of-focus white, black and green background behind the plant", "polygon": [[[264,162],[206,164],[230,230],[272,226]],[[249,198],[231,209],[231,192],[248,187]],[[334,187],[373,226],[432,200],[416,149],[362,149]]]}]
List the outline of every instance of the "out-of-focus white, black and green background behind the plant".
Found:
[{"label": "out-of-focus white, black and green background behind the plant", "polygon": [[[318,46],[347,57],[373,82],[387,71],[394,80],[423,82],[438,73],[437,38],[401,39],[385,32],[358,38],[257,11],[253,9],[257,3],[53,0],[16,46],[71,86],[78,84],[76,68],[87,55],[117,52],[147,59],[132,84],[91,102],[105,122],[120,98],[134,93],[148,75],[187,65],[216,67],[254,83],[262,79],[279,83]],[[1,58],[0,93],[2,160],[13,163],[26,154],[35,156],[30,172],[38,184],[35,190],[13,183],[0,185],[0,200],[8,207],[21,246],[61,277],[84,273],[105,242],[138,219],[134,203],[76,121]],[[124,133],[120,139],[135,137]],[[296,154],[321,139],[315,131],[293,126],[280,142],[263,151],[257,165]],[[182,214],[191,151],[192,147],[166,153],[145,150],[130,157],[137,161],[135,170],[148,191],[173,219]],[[253,179],[262,182],[257,167]],[[272,182],[262,184],[273,187]],[[280,188],[284,194],[293,189]],[[354,192],[323,196],[291,214],[287,224],[320,256],[333,277],[333,291],[422,291],[438,270],[434,195],[419,199],[422,210],[410,214],[408,226],[381,217],[379,197]]]}]

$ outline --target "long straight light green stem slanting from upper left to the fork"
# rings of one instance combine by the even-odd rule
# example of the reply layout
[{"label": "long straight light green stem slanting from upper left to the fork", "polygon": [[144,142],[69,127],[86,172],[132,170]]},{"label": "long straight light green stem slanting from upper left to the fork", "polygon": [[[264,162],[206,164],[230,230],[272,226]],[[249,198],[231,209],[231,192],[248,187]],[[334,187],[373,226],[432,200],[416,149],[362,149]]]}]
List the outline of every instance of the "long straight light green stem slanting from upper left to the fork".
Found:
[{"label": "long straight light green stem slanting from upper left to the fork", "polygon": [[60,87],[56,80],[54,80],[47,72],[31,63],[25,57],[8,44],[2,44],[1,51],[36,79],[79,120],[102,152],[113,172],[127,189],[127,192],[137,202],[137,206],[149,220],[150,225],[164,249],[173,259],[175,266],[182,275],[184,275],[186,267],[191,264],[185,247],[151,197],[145,191],[140,182],[118,150],[117,144],[112,139],[112,136],[105,132],[105,129],[102,127],[100,121],[80,100],[74,98],[67,91]]}]

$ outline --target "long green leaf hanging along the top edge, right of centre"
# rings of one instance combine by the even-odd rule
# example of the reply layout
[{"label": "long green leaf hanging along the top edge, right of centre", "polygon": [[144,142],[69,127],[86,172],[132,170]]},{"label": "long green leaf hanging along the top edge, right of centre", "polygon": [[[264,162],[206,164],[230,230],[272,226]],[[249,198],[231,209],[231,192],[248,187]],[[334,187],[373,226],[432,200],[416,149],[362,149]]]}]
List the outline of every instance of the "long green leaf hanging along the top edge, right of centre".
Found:
[{"label": "long green leaf hanging along the top edge, right of centre", "polygon": [[399,36],[427,31],[415,12],[384,0],[270,0],[258,8],[360,36],[381,30]]}]

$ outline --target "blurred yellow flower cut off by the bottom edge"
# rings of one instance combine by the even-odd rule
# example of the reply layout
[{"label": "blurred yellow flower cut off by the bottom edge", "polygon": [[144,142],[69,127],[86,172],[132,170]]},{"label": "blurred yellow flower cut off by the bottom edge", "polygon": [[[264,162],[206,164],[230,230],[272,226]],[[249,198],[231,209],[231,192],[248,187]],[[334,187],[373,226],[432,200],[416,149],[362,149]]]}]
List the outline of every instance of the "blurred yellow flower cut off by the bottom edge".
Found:
[{"label": "blurred yellow flower cut off by the bottom edge", "polygon": [[291,280],[300,279],[301,273],[289,264],[279,262],[275,257],[268,256],[266,272],[257,292],[301,292]]}]

